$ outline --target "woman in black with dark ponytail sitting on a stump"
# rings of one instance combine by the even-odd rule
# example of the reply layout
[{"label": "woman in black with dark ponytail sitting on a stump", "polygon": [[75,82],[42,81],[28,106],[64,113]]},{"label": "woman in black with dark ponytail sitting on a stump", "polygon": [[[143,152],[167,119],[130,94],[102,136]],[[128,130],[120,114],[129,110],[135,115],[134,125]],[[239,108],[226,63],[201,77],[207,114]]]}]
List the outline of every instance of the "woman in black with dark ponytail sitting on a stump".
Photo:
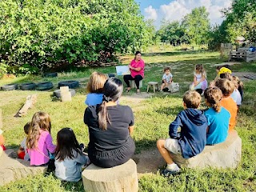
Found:
[{"label": "woman in black with dark ponytail sitting on a stump", "polygon": [[90,134],[88,156],[96,166],[118,166],[134,154],[135,144],[130,137],[134,130],[134,114],[130,106],[118,105],[122,89],[118,78],[107,79],[102,104],[86,108],[84,122]]}]

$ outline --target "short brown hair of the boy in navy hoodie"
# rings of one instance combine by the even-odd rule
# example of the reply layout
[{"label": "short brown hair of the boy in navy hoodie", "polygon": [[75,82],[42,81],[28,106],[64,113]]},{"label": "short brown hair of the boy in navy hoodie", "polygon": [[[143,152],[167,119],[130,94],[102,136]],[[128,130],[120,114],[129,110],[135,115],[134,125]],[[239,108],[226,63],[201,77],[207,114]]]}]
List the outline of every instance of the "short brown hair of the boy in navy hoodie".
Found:
[{"label": "short brown hair of the boy in navy hoodie", "polygon": [[197,109],[201,102],[201,96],[195,90],[188,90],[183,96],[187,108]]}]

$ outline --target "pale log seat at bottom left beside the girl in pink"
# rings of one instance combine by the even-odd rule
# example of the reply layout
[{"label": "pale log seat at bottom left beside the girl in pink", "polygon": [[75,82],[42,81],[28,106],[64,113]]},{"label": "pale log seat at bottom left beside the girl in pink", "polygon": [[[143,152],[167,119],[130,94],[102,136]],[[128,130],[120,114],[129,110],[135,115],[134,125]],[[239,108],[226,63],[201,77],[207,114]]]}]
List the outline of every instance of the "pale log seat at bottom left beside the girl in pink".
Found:
[{"label": "pale log seat at bottom left beside the girl in pink", "polygon": [[10,158],[8,155],[13,151],[5,150],[0,157],[0,186],[29,175],[46,172],[47,166],[30,166],[30,162],[18,158]]}]

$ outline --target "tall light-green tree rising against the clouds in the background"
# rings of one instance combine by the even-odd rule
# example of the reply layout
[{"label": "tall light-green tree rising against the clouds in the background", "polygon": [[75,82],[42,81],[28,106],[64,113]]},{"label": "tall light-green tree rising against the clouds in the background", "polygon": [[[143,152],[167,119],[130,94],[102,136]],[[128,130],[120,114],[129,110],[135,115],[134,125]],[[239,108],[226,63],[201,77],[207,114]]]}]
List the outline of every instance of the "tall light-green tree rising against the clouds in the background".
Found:
[{"label": "tall light-green tree rising against the clouds in the background", "polygon": [[187,14],[182,20],[182,28],[189,36],[190,41],[196,44],[207,42],[207,34],[210,30],[209,13],[205,6],[194,8],[190,14]]}]

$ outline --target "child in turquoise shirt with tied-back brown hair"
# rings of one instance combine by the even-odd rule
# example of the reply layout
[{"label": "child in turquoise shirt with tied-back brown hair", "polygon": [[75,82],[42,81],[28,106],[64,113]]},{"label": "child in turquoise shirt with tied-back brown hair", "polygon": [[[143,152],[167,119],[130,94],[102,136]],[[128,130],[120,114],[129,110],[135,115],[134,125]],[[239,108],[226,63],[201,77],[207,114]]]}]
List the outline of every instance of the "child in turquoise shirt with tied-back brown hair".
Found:
[{"label": "child in turquoise shirt with tied-back brown hair", "polygon": [[207,88],[204,92],[206,106],[206,118],[208,130],[206,134],[206,145],[214,145],[225,142],[229,130],[230,112],[221,106],[222,90],[218,87]]}]

